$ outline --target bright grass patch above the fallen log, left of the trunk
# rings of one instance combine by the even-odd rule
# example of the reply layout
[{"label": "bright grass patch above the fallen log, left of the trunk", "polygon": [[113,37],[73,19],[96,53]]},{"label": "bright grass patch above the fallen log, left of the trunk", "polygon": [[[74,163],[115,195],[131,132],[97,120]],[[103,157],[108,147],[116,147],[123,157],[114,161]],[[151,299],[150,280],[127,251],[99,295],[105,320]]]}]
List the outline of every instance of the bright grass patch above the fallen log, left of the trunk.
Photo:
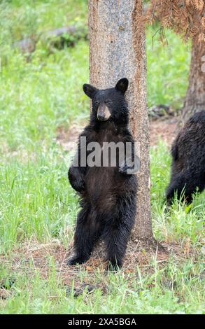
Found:
[{"label": "bright grass patch above the fallen log, left of the trunk", "polygon": [[87,1],[1,0],[0,8],[1,46],[87,19]]}]

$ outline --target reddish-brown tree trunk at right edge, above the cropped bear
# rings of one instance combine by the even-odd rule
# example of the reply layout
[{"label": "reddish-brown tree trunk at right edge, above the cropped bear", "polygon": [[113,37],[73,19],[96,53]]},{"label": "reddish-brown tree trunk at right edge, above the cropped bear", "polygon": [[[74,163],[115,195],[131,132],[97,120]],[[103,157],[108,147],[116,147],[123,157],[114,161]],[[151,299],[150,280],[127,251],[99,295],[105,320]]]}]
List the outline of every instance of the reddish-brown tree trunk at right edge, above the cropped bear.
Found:
[{"label": "reddish-brown tree trunk at right edge, above the cropped bear", "polygon": [[189,87],[182,110],[185,123],[194,113],[205,110],[205,42],[192,41]]}]

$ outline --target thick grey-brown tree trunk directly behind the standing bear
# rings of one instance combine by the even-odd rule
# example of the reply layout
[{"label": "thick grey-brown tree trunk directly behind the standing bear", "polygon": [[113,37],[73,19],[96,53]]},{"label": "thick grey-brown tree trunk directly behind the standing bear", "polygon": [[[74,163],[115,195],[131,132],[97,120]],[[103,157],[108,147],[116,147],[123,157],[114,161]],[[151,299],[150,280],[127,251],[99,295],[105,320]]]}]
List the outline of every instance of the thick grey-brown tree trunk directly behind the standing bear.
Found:
[{"label": "thick grey-brown tree trunk directly behind the standing bear", "polygon": [[141,169],[138,176],[134,240],[155,244],[150,212],[149,123],[146,99],[146,41],[140,22],[141,0],[89,0],[90,83],[113,87],[129,79],[127,101],[130,126],[139,143]]}]

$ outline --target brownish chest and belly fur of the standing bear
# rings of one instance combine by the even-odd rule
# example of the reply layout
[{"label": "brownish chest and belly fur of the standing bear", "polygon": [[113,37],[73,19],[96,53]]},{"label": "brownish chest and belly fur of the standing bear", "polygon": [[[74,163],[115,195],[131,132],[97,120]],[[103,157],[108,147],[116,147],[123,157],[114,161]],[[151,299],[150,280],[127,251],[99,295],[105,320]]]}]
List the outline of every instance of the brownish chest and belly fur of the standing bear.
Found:
[{"label": "brownish chest and belly fur of the standing bear", "polygon": [[[100,166],[88,167],[85,175],[85,190],[89,202],[94,207],[101,209],[101,202],[104,200],[107,209],[113,207],[118,195],[125,193],[127,188],[127,181],[131,176],[125,176],[119,172],[119,158],[118,148],[115,152],[110,150],[106,152],[108,144],[113,144],[114,148],[118,142],[123,142],[123,132],[118,130],[111,123],[107,123],[101,127],[98,131],[93,131],[89,134],[90,142],[97,142],[99,145],[98,152],[96,152],[96,162],[100,163]],[[99,157],[99,159],[97,159]],[[108,160],[104,165],[104,160]]]}]

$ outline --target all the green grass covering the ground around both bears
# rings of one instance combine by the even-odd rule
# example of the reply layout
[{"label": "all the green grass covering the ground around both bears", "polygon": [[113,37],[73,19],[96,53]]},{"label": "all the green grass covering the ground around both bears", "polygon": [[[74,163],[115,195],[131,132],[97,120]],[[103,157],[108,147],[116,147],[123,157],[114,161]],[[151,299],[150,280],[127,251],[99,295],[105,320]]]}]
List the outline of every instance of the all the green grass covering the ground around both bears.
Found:
[{"label": "all the green grass covering the ground around both bears", "polygon": [[[204,311],[203,218],[204,193],[188,209],[176,202],[164,207],[171,158],[166,145],[151,149],[152,211],[155,237],[167,243],[189,246],[196,254],[179,260],[170,255],[167,266],[155,259],[150,272],[136,264],[134,274],[105,276],[96,269],[94,283],[106,291],[86,292],[78,298],[66,295],[52,255],[49,275],[43,279],[32,260],[21,255],[22,244],[59,243],[67,247],[73,236],[78,200],[66,172],[70,154],[57,143],[57,128],[80,125],[89,113],[82,91],[88,81],[88,44],[48,53],[39,42],[27,61],[10,47],[20,38],[74,22],[85,25],[87,3],[83,0],[0,1],[0,282],[15,276],[1,298],[1,313],[202,313]],[[190,49],[171,31],[169,47],[152,36],[148,27],[148,103],[181,106],[188,85]],[[19,251],[20,271],[12,264]],[[31,275],[32,273],[32,275]],[[134,278],[132,279],[132,276]],[[76,281],[90,280],[80,269]],[[7,282],[8,284],[8,282]],[[9,284],[8,284],[9,286]]]}]

